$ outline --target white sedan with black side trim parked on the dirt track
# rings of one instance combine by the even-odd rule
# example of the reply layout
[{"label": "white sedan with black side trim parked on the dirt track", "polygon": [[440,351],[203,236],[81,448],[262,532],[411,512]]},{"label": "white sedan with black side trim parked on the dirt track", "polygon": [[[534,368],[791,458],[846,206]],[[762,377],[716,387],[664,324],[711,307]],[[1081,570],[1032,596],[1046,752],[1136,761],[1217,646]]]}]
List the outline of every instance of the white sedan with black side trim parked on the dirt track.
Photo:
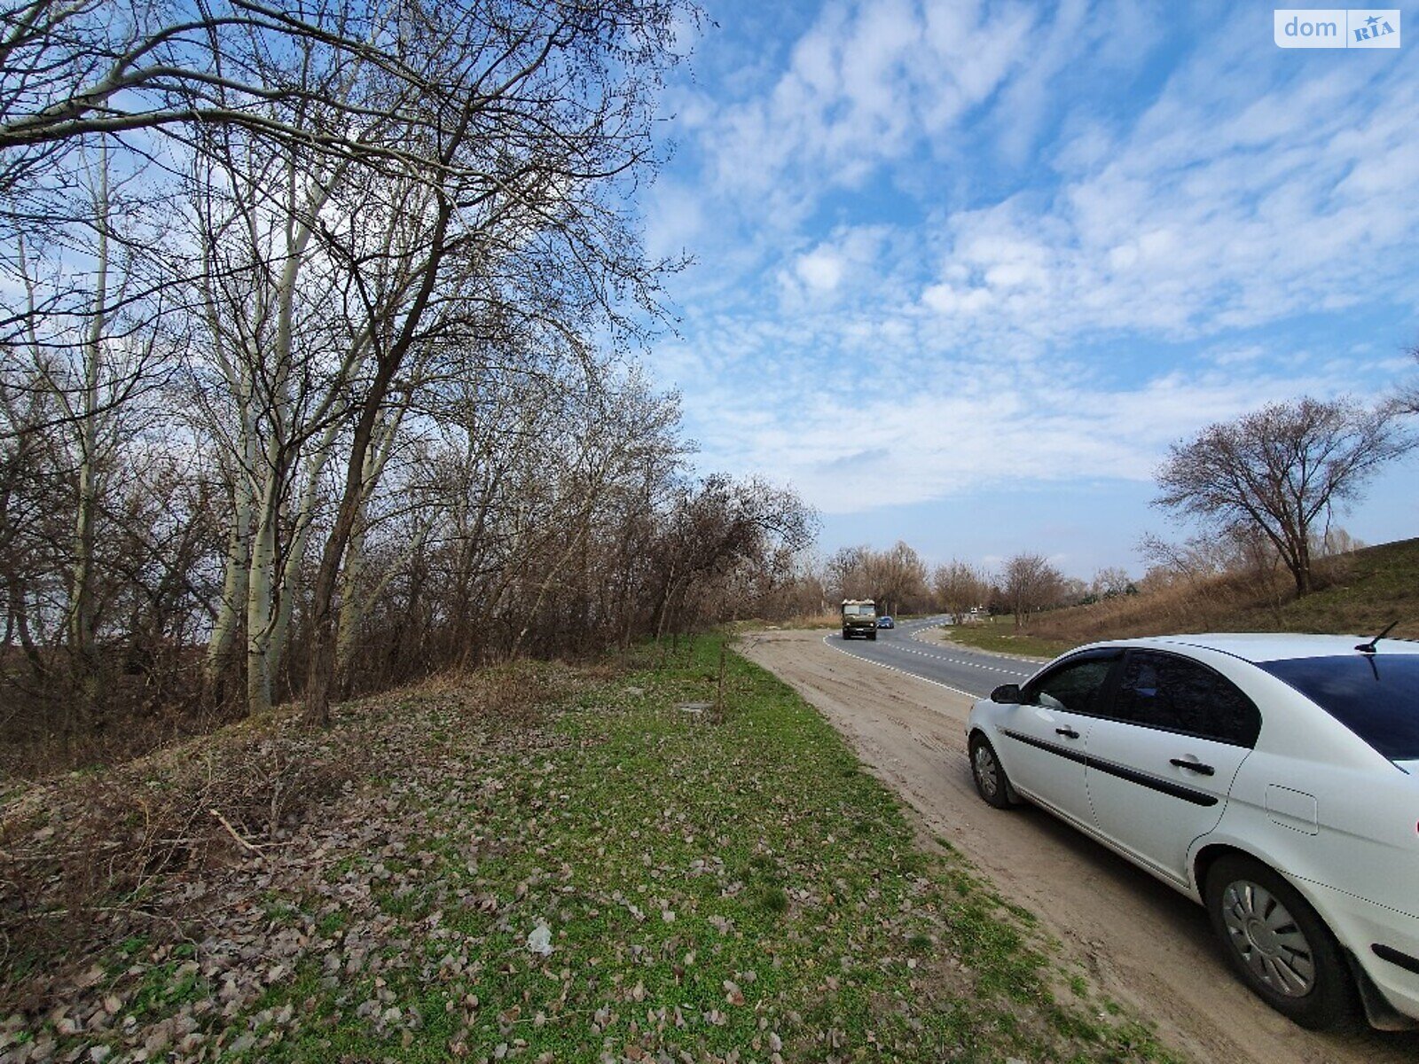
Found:
[{"label": "white sedan with black side trim parked on the dirt track", "polygon": [[1202,902],[1271,1007],[1419,1026],[1419,643],[1080,647],[975,704],[981,797],[1023,796]]}]

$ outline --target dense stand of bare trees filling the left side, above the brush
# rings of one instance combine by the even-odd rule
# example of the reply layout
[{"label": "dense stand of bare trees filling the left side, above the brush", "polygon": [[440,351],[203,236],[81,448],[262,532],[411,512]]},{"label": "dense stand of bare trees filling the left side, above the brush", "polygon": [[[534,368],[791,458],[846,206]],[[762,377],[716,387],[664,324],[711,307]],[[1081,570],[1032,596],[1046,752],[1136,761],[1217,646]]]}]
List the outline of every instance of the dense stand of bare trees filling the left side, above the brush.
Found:
[{"label": "dense stand of bare trees filling the left side, above the brush", "polygon": [[[677,401],[626,370],[688,7],[0,6],[0,576],[35,691],[85,674],[71,644],[207,641],[209,701],[304,677],[319,722],[355,680],[785,586],[812,512],[690,480]],[[871,579],[905,602],[914,559]]]}]

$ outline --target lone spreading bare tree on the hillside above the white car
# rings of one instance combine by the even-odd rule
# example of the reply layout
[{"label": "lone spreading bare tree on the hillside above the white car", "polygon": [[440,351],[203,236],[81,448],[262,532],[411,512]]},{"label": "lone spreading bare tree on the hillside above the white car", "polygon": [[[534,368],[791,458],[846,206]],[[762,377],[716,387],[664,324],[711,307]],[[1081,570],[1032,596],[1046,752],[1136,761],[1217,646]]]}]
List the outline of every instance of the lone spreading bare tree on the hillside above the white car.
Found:
[{"label": "lone spreading bare tree on the hillside above the white car", "polygon": [[[1393,406],[1374,410],[1348,399],[1273,403],[1176,443],[1158,471],[1154,505],[1225,529],[1256,529],[1296,582],[1311,590],[1313,531],[1327,529],[1337,505],[1358,497],[1382,464],[1419,440]],[[1324,532],[1323,532],[1324,535]]]}]

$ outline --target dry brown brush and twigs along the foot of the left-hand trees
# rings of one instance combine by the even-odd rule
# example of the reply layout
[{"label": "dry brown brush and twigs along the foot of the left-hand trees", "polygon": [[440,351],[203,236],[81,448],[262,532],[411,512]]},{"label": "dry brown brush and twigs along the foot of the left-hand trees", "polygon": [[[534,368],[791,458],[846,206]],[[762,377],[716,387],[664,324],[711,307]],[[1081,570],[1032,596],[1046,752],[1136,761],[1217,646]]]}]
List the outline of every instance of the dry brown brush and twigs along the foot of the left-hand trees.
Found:
[{"label": "dry brown brush and twigs along the foot of the left-hand trees", "polygon": [[336,706],[329,729],[280,706],[106,769],[0,792],[0,1016],[105,941],[180,915],[183,884],[291,844],[294,830],[368,775],[437,756],[419,718],[521,733],[566,682],[517,664],[450,674]]}]

